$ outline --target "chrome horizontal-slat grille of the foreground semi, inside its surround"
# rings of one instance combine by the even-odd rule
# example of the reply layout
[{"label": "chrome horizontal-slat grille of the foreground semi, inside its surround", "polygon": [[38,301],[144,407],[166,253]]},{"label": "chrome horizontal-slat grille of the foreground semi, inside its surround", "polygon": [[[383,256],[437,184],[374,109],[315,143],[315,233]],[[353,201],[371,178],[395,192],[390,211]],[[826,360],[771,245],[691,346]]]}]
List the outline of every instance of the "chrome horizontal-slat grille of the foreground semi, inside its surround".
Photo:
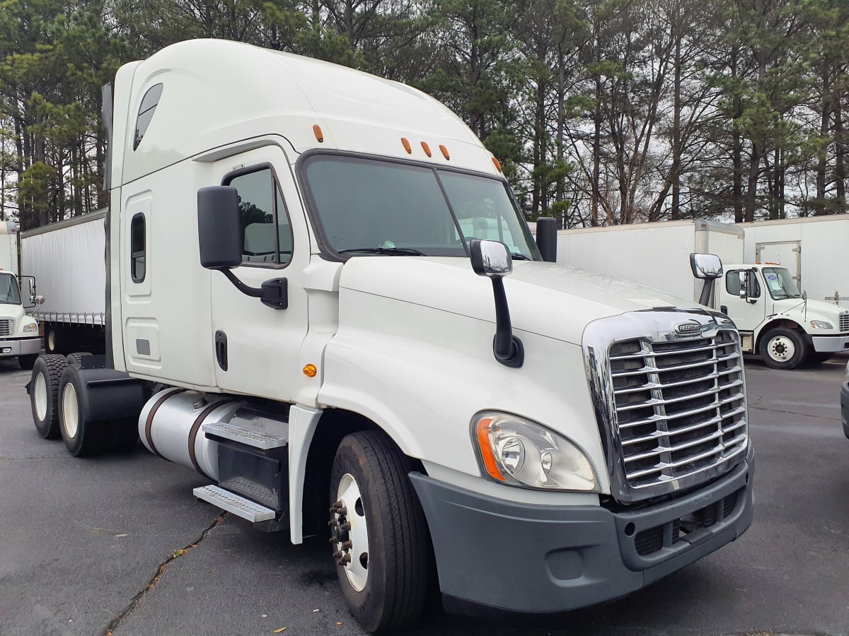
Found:
[{"label": "chrome horizontal-slat grille of the foreground semi, inside its surround", "polygon": [[705,471],[746,446],[737,335],[610,346],[615,427],[630,488]]}]

